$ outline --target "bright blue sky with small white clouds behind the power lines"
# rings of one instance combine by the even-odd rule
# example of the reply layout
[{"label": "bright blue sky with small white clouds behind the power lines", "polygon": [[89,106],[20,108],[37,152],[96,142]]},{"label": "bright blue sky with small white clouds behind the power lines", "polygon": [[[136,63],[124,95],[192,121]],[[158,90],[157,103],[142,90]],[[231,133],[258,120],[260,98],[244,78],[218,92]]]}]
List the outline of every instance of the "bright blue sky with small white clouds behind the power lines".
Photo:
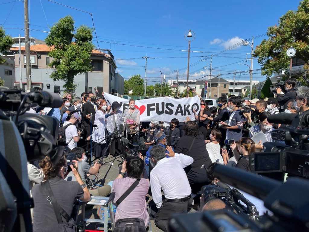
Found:
[{"label": "bright blue sky with small white clouds behind the power lines", "polygon": [[[31,37],[44,39],[49,26],[66,15],[72,15],[75,26],[86,24],[92,27],[91,16],[87,13],[67,8],[47,0],[28,0],[30,9]],[[230,48],[242,39],[258,37],[267,32],[269,26],[289,10],[297,10],[298,0],[217,0],[217,1],[69,1],[55,0],[68,6],[92,13],[99,47],[111,49],[116,59],[118,71],[125,79],[135,74],[145,76],[147,60],[148,84],[161,81],[161,74],[176,80],[186,79],[188,42],[184,32],[191,29],[196,38],[191,43],[190,79],[198,79],[209,74],[210,55]],[[0,26],[3,28],[23,28],[23,1],[0,0]],[[44,9],[44,10],[43,10]],[[45,17],[46,16],[46,17]],[[24,35],[20,29],[6,29],[12,37]],[[93,33],[94,34],[94,33]],[[93,43],[97,46],[94,36]],[[254,40],[254,47],[267,36]],[[144,47],[141,47],[144,46]],[[160,49],[158,49],[160,48]],[[221,78],[232,79],[236,71],[246,71],[248,67],[238,63],[247,62],[250,46],[238,46],[213,58],[213,75],[220,72]],[[200,57],[207,56],[207,57]],[[181,58],[179,58],[181,57]],[[248,58],[250,55],[248,54]],[[253,70],[260,69],[256,60]],[[237,74],[236,79],[249,80],[248,73]],[[205,78],[204,78],[205,79]],[[208,77],[207,77],[208,79]],[[264,80],[260,71],[253,72],[253,80]]]}]

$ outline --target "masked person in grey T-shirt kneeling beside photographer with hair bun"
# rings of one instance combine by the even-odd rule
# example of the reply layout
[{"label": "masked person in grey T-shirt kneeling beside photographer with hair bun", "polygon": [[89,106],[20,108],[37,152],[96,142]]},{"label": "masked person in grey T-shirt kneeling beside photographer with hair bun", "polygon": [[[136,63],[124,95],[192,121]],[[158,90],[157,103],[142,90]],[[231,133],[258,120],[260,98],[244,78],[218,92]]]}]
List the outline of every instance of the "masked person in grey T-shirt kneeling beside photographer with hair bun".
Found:
[{"label": "masked person in grey T-shirt kneeling beside photographer with hair bun", "polygon": [[[98,164],[96,161],[95,164],[91,167],[86,162],[85,150],[83,148],[74,148],[72,149],[71,153],[74,153],[76,156],[75,159],[78,161],[78,173],[84,183],[86,182],[87,175],[97,175],[99,173],[99,169],[102,164]],[[75,177],[72,172],[67,175],[66,180],[75,181]],[[108,196],[111,194],[111,187],[109,185],[105,185],[97,189],[89,190],[89,192],[92,196]]]}]

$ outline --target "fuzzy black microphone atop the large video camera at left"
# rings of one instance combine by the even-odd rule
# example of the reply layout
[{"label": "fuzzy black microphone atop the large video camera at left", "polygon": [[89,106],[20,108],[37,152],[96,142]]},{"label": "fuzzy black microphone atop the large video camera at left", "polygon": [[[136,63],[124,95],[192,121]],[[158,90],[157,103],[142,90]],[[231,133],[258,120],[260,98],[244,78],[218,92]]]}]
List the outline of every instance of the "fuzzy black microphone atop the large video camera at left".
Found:
[{"label": "fuzzy black microphone atop the large video camera at left", "polygon": [[33,103],[44,107],[59,108],[63,104],[60,95],[43,90],[40,92],[29,92],[28,98]]}]

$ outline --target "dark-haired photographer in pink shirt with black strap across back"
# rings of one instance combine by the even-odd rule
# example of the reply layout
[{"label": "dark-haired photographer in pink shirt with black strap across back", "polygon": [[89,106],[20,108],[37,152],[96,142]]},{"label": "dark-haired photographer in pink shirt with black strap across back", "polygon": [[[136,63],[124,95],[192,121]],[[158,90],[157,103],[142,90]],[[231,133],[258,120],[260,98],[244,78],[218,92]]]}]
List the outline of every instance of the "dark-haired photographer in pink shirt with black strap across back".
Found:
[{"label": "dark-haired photographer in pink shirt with black strap across back", "polygon": [[[140,156],[142,157],[142,156]],[[123,178],[127,172],[127,177]],[[121,172],[112,184],[112,193],[115,194],[114,203],[131,187],[138,182],[137,186],[122,200],[117,203],[115,220],[124,218],[140,218],[145,223],[145,228],[149,224],[149,214],[147,212],[147,202],[145,200],[149,189],[149,181],[140,178],[144,172],[144,162],[142,158],[133,157],[122,163]]]}]

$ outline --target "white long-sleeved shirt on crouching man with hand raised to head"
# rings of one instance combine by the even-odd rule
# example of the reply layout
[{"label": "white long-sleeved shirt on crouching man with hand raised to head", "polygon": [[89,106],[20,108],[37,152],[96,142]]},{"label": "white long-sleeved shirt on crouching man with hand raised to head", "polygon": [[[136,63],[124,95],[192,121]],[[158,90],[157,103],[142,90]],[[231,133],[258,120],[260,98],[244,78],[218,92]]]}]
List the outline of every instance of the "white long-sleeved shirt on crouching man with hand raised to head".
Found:
[{"label": "white long-sleeved shirt on crouching man with hand raised to head", "polygon": [[159,160],[150,172],[152,198],[157,206],[162,206],[161,189],[166,199],[181,199],[191,195],[191,187],[184,167],[193,163],[193,158],[175,153],[175,157]]}]

